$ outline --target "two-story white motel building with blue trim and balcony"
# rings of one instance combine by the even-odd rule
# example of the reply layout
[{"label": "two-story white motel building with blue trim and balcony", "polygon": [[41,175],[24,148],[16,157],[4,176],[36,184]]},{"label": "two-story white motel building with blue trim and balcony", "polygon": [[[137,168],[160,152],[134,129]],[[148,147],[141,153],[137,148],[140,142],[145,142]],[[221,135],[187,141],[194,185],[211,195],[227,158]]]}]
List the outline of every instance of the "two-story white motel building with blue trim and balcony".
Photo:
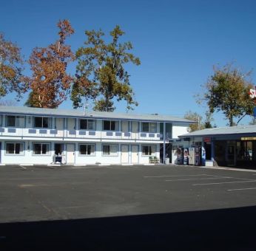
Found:
[{"label": "two-story white motel building with blue trim and balcony", "polygon": [[0,106],[0,162],[47,165],[61,156],[70,165],[147,164],[189,123],[158,114]]}]

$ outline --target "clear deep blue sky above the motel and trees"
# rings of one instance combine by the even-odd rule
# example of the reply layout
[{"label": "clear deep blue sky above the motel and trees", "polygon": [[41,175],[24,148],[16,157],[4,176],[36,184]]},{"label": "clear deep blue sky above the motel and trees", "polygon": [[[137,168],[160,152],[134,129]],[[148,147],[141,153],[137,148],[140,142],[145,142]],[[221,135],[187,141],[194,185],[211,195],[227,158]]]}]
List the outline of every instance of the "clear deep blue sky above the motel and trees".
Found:
[{"label": "clear deep blue sky above the motel and trees", "polygon": [[[0,13],[0,32],[21,47],[26,59],[34,47],[47,47],[58,38],[60,19],[68,19],[75,30],[67,40],[73,51],[86,41],[85,30],[101,29],[108,39],[120,25],[123,41],[131,41],[132,53],[141,59],[140,66],[127,65],[139,103],[133,113],[182,117],[190,110],[203,115],[206,107],[198,106],[195,94],[203,93],[217,64],[234,62],[244,72],[253,70],[256,83],[255,0],[3,0]],[[75,63],[69,71],[74,74]],[[115,106],[126,112],[126,103]],[[67,100],[60,108],[72,109],[72,103]],[[214,119],[217,126],[228,123],[221,112]]]}]

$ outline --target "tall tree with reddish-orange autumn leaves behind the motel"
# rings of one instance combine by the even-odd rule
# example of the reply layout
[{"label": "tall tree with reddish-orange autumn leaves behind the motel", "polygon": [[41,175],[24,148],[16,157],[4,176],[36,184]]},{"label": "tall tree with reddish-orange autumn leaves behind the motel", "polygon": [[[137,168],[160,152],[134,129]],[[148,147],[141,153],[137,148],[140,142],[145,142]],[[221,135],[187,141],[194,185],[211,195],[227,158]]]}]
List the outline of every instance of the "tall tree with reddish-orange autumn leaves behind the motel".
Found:
[{"label": "tall tree with reddish-orange autumn leaves behind the motel", "polygon": [[67,20],[59,21],[57,26],[58,40],[45,48],[36,47],[30,55],[33,77],[27,79],[32,89],[25,103],[27,106],[57,108],[70,92],[73,78],[66,70],[67,63],[74,60],[74,55],[65,40],[74,30]]}]

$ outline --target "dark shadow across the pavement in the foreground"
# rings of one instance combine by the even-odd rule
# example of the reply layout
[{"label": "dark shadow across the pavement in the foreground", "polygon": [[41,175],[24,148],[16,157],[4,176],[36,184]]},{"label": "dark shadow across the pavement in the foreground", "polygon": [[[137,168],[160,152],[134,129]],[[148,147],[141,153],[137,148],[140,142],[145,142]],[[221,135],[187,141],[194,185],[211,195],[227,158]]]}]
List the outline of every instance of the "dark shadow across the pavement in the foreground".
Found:
[{"label": "dark shadow across the pavement in the foreground", "polygon": [[0,250],[256,250],[256,207],[0,224]]}]

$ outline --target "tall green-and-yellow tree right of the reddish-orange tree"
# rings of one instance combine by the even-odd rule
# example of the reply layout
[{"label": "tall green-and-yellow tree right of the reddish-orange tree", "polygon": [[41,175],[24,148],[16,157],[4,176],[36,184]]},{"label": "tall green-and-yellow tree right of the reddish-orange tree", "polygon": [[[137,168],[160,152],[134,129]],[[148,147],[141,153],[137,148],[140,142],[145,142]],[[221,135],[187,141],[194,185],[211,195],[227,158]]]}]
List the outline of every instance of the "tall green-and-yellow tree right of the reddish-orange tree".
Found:
[{"label": "tall green-and-yellow tree right of the reddish-orange tree", "polygon": [[127,101],[127,109],[138,106],[124,64],[139,65],[141,62],[128,52],[132,49],[130,42],[121,44],[119,41],[124,31],[116,26],[110,32],[110,44],[103,40],[104,32],[101,30],[86,31],[85,34],[85,47],[76,52],[78,65],[71,94],[73,106],[81,107],[83,98],[94,100],[95,111],[114,111],[115,99]]}]

